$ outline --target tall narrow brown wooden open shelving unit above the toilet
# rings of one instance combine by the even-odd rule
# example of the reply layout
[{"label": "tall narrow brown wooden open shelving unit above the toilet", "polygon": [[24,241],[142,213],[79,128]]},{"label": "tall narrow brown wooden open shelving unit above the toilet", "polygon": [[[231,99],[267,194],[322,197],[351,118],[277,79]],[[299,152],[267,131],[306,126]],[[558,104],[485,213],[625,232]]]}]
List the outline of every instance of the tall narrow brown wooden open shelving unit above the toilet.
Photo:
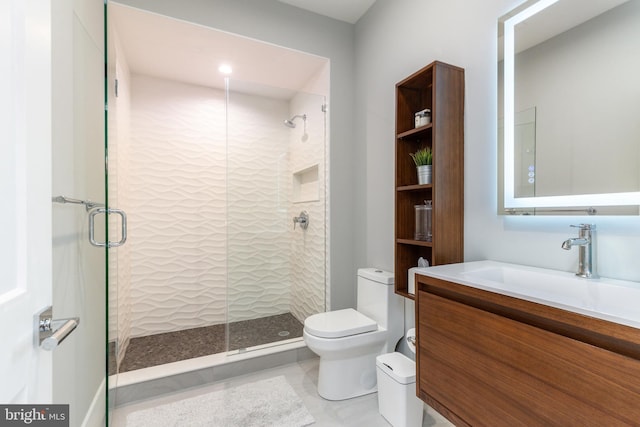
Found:
[{"label": "tall narrow brown wooden open shelving unit above the toilet", "polygon": [[[415,127],[415,113],[431,109],[431,123]],[[409,153],[433,152],[432,183],[418,185]],[[430,265],[464,256],[464,69],[433,62],[396,85],[395,290],[408,298],[407,272],[424,257]],[[431,242],[414,240],[415,205],[433,203]]]}]

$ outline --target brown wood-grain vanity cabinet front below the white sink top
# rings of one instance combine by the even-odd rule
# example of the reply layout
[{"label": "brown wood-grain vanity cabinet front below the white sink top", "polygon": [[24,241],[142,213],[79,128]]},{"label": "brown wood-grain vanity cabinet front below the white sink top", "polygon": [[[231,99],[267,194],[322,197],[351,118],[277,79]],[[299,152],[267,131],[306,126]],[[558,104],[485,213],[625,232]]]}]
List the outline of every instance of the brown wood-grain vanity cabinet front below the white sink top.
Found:
[{"label": "brown wood-grain vanity cabinet front below the white sink top", "polygon": [[640,330],[426,276],[418,397],[456,426],[640,425]]}]

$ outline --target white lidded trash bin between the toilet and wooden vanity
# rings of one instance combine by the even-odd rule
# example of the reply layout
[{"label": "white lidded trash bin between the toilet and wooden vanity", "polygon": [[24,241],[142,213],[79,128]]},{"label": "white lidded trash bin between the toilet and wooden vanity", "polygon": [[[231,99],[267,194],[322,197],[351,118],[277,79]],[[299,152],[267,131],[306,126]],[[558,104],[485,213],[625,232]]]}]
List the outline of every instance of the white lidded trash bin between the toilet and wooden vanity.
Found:
[{"label": "white lidded trash bin between the toilet and wooden vanity", "polygon": [[393,427],[422,426],[424,406],[416,396],[416,364],[402,353],[376,357],[378,411]]}]

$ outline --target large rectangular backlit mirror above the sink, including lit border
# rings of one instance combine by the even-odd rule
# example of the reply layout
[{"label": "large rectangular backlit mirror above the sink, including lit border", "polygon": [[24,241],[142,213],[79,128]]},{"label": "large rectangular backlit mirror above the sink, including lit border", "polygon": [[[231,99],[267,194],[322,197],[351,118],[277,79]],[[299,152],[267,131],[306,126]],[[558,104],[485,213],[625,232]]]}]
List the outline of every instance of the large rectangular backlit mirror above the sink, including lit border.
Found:
[{"label": "large rectangular backlit mirror above the sink, including lit border", "polygon": [[500,19],[499,213],[638,215],[640,0]]}]

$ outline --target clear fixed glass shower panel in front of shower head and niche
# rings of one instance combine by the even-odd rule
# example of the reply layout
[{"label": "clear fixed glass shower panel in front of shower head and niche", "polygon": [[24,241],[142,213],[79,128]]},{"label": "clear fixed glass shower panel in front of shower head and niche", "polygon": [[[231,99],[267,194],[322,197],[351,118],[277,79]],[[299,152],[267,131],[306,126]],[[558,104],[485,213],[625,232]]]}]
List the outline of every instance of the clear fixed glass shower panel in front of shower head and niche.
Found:
[{"label": "clear fixed glass shower panel in front of shower head and niche", "polygon": [[[304,319],[325,311],[324,103],[322,95],[228,82],[230,352],[300,340]],[[301,212],[307,228],[293,221]]]}]

